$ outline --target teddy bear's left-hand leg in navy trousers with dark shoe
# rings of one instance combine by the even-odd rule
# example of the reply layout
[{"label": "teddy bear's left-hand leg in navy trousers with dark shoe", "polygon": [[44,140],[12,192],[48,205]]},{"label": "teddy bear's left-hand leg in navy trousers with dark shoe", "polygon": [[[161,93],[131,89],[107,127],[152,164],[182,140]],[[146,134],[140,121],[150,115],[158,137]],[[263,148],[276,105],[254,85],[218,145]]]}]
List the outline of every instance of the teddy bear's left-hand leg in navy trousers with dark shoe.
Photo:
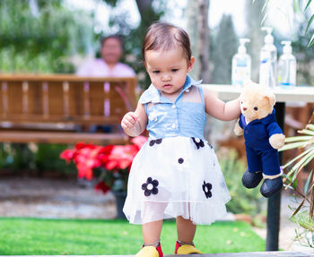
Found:
[{"label": "teddy bear's left-hand leg in navy trousers with dark shoe", "polygon": [[246,147],[248,169],[242,176],[242,184],[247,188],[254,188],[263,179],[262,162],[257,152],[248,146]]}]

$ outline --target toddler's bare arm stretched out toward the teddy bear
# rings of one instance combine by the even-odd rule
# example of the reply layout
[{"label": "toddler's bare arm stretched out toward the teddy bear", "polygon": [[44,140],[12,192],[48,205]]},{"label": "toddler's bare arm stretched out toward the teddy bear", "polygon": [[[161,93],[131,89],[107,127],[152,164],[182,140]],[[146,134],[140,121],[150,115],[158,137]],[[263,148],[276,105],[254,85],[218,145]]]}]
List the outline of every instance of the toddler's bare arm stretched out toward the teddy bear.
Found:
[{"label": "toddler's bare arm stretched out toward the teddy bear", "polygon": [[205,110],[210,116],[222,121],[231,121],[240,116],[240,99],[223,102],[218,99],[217,93],[203,87]]}]

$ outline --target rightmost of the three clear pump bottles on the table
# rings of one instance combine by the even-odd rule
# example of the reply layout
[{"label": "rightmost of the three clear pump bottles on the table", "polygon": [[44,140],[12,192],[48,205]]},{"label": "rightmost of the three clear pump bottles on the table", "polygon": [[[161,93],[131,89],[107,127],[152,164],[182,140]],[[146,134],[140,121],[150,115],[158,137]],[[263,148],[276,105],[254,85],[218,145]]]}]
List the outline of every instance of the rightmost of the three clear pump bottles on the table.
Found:
[{"label": "rightmost of the three clear pump bottles on the table", "polygon": [[292,55],[291,41],[282,41],[283,55],[278,61],[278,85],[292,88],[296,85],[297,61]]}]

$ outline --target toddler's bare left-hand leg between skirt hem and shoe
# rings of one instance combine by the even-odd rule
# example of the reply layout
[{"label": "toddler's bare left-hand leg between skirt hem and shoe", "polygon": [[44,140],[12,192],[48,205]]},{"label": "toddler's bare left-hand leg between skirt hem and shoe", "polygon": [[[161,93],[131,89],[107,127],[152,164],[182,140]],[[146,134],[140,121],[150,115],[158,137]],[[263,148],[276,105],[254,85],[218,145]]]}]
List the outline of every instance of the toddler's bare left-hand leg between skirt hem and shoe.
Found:
[{"label": "toddler's bare left-hand leg between skirt hem and shoe", "polygon": [[145,223],[142,226],[144,245],[157,247],[161,238],[162,219]]}]

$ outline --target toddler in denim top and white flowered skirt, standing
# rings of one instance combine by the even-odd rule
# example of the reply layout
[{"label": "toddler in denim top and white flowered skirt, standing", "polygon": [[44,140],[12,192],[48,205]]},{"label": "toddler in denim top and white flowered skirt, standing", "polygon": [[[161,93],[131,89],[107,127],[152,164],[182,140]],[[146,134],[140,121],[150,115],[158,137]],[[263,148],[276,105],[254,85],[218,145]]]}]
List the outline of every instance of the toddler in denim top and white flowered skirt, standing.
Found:
[{"label": "toddler in denim top and white flowered skirt, standing", "polygon": [[201,253],[193,243],[196,224],[222,218],[231,199],[214,149],[204,138],[206,113],[236,119],[240,101],[224,103],[188,76],[195,58],[185,30],[153,23],[142,51],[152,85],[121,122],[129,136],[149,132],[133,161],[124,206],[129,222],[142,224],[144,244],[135,256],[162,257],[164,218],[176,218],[175,254]]}]

